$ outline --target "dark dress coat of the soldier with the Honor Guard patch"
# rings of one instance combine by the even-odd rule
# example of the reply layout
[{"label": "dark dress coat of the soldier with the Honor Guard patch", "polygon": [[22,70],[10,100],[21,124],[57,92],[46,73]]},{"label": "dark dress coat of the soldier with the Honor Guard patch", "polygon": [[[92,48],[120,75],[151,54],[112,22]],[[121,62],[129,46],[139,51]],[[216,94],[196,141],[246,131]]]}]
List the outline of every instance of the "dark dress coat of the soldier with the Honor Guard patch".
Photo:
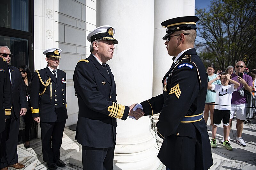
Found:
[{"label": "dark dress coat of the soldier with the Honor Guard patch", "polygon": [[163,94],[141,103],[145,115],[161,112],[156,126],[158,136],[164,141],[158,158],[172,170],[203,170],[213,164],[204,119],[181,122],[184,116],[203,113],[206,92],[204,64],[192,48],[184,52],[164,76]]}]

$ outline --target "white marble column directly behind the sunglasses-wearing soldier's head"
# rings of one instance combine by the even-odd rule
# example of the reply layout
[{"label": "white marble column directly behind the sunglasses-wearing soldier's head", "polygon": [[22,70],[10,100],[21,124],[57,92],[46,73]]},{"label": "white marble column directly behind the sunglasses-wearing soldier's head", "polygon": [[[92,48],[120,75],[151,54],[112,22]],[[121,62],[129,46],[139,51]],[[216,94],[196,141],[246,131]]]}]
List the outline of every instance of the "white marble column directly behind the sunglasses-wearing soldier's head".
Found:
[{"label": "white marble column directly behind the sunglasses-wearing soldier's head", "polygon": [[[162,80],[165,73],[170,69],[173,61],[168,55],[166,45],[162,40],[166,33],[166,28],[161,23],[167,19],[194,16],[195,0],[155,0],[154,13],[154,62],[153,62],[153,96],[161,94]],[[158,121],[159,114],[154,115],[155,122]]]}]

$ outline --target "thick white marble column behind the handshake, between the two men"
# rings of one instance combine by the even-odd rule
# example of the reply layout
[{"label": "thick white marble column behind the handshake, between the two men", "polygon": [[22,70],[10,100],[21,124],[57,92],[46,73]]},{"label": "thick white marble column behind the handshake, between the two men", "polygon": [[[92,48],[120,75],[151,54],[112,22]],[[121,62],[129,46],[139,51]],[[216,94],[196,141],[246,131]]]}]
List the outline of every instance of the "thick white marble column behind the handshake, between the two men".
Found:
[{"label": "thick white marble column behind the handshake, between the two men", "polygon": [[[152,97],[154,0],[97,1],[97,26],[116,29],[114,56],[107,63],[115,76],[117,102],[130,106]],[[117,120],[114,169],[157,169],[156,140],[149,117]]]}]

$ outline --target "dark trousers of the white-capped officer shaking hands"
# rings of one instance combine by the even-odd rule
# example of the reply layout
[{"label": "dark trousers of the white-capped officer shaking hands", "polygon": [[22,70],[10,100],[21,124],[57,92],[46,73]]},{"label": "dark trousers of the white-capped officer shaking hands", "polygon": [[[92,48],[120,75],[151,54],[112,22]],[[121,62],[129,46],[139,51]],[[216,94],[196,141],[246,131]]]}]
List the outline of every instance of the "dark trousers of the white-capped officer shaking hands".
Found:
[{"label": "dark trousers of the white-capped officer shaking hands", "polygon": [[83,170],[112,170],[115,145],[110,148],[82,146]]}]

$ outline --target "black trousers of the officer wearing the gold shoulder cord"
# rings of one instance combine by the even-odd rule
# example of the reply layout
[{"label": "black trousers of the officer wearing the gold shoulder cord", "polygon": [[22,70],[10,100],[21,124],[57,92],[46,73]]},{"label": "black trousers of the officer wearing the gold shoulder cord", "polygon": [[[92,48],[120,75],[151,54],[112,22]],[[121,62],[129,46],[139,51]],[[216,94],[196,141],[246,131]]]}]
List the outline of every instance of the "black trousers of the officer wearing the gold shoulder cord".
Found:
[{"label": "black trousers of the officer wearing the gold shoulder cord", "polygon": [[60,159],[60,146],[66,120],[62,122],[40,122],[44,162]]}]

